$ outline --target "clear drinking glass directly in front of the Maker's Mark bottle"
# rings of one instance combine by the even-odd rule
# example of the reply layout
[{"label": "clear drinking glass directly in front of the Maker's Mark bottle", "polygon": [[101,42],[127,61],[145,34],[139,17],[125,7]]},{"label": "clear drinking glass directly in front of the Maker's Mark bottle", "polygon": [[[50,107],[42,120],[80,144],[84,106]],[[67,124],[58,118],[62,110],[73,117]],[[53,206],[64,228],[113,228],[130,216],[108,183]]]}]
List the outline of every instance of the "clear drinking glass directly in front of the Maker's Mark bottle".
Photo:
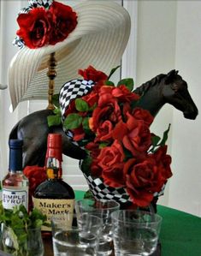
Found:
[{"label": "clear drinking glass directly in front of the Maker's Mark bottle", "polygon": [[102,221],[87,213],[51,218],[54,256],[96,256]]}]

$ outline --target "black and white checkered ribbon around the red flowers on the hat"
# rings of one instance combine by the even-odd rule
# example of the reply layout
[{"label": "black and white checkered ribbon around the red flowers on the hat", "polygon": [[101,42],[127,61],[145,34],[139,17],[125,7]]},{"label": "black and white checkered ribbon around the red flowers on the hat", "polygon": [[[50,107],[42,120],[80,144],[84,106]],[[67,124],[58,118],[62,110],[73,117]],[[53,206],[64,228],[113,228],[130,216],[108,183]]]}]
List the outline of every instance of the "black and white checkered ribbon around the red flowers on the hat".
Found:
[{"label": "black and white checkered ribbon around the red flowers on the hat", "polygon": [[[18,15],[27,14],[31,9],[38,8],[38,7],[44,7],[44,9],[49,9],[53,1],[54,0],[29,0],[28,6],[21,9]],[[16,36],[13,41],[13,45],[18,46],[19,48],[23,48],[25,46],[25,42],[19,36]]]}]

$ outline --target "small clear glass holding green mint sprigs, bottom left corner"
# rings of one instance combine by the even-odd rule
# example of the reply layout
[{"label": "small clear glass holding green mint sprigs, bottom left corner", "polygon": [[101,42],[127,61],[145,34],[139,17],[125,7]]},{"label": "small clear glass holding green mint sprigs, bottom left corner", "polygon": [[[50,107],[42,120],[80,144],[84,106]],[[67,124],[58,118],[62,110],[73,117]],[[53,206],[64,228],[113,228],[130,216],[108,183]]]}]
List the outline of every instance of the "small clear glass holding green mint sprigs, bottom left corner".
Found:
[{"label": "small clear glass holding green mint sprigs, bottom left corner", "polygon": [[1,250],[15,256],[43,256],[41,229],[11,229],[2,223]]}]

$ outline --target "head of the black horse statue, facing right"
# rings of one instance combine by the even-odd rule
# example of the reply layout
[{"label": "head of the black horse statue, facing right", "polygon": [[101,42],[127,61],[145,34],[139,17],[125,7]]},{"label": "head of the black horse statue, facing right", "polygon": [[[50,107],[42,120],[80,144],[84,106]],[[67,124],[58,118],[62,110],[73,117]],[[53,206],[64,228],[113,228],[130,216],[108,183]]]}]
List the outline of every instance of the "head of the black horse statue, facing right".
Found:
[{"label": "head of the black horse statue, facing right", "polygon": [[168,104],[183,112],[187,119],[195,119],[198,109],[187,89],[187,83],[172,70],[164,77],[163,97]]}]

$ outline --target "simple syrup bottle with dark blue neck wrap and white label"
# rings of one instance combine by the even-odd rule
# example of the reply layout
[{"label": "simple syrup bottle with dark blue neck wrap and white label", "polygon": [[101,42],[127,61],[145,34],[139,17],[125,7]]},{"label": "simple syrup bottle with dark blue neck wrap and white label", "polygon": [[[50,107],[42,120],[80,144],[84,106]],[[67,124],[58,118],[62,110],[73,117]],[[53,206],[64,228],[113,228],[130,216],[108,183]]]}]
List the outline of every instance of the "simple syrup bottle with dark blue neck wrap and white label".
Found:
[{"label": "simple syrup bottle with dark blue neck wrap and white label", "polygon": [[22,140],[9,140],[9,172],[2,181],[3,208],[25,205],[28,209],[28,179],[22,171]]}]

